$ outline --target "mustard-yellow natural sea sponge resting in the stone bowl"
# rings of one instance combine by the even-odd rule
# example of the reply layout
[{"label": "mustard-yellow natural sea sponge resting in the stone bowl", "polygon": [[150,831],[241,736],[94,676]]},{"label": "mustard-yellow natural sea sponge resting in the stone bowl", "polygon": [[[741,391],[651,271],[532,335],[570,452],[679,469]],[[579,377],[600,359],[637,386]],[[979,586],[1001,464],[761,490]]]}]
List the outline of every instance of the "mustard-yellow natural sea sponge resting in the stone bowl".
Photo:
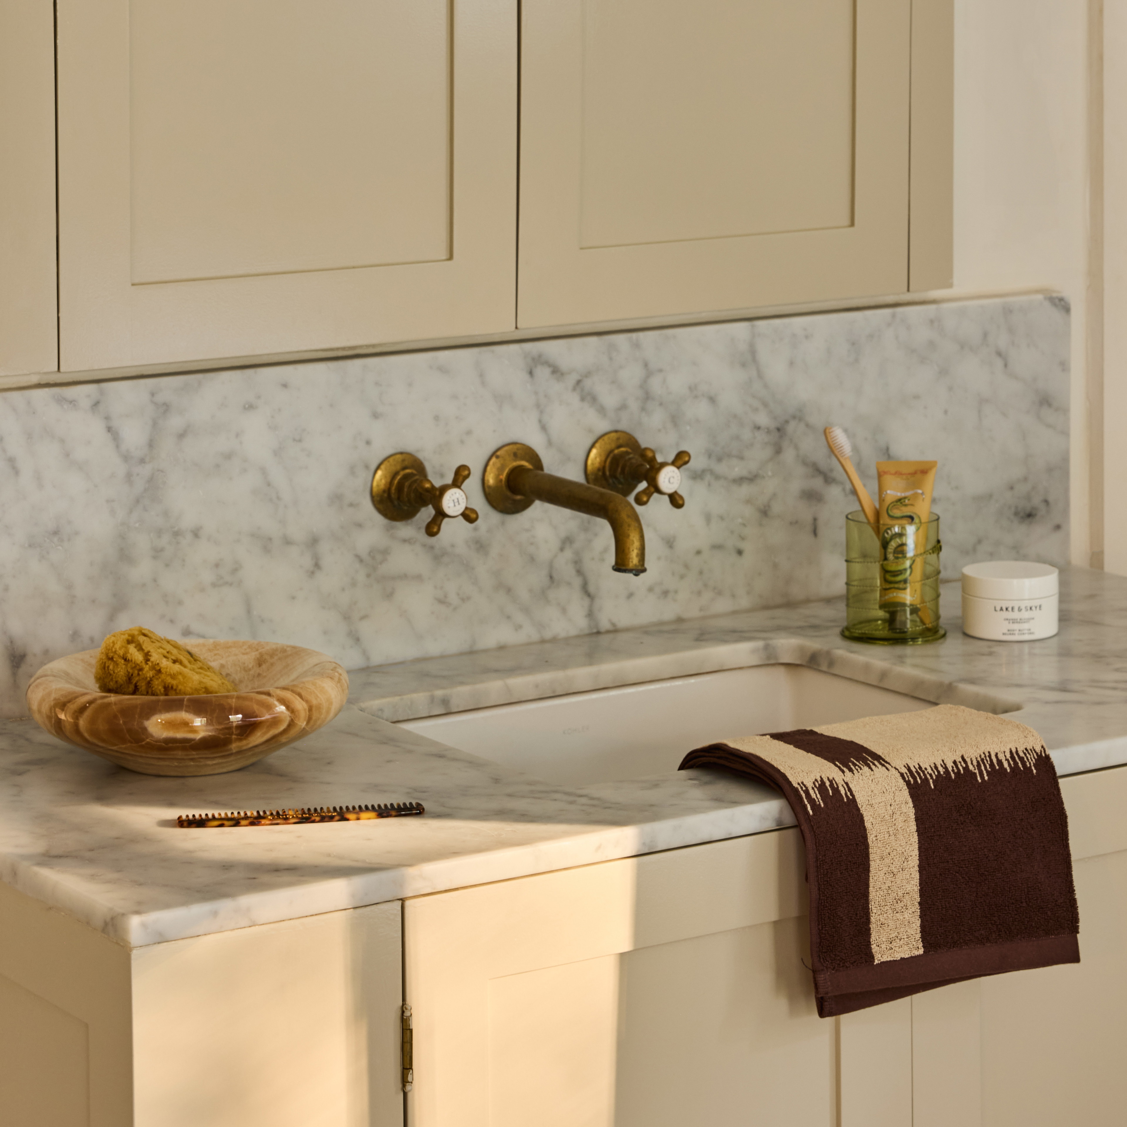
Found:
[{"label": "mustard-yellow natural sea sponge resting in the stone bowl", "polygon": [[101,644],[94,680],[104,693],[128,696],[203,696],[233,693],[219,669],[171,638],[133,627]]}]

